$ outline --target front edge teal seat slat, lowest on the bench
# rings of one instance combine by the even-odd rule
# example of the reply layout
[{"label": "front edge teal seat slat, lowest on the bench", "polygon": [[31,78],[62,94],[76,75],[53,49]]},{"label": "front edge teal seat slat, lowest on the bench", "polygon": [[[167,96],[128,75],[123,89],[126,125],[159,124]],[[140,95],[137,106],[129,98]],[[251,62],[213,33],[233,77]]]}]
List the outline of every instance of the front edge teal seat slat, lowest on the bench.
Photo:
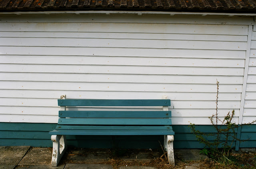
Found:
[{"label": "front edge teal seat slat, lowest on the bench", "polygon": [[173,135],[172,130],[53,130],[52,135]]}]

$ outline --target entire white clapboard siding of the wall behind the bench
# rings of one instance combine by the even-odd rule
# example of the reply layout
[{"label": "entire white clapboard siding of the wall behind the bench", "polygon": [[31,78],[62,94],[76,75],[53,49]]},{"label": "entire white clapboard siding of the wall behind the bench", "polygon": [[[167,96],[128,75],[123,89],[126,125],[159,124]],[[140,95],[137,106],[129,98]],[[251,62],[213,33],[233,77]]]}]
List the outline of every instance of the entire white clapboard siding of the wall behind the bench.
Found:
[{"label": "entire white clapboard siding of the wall behind the bench", "polygon": [[[219,117],[234,109],[238,122],[252,17],[111,16],[2,17],[0,122],[56,123],[61,95],[84,99],[166,95],[171,99],[172,124],[210,124],[217,80]],[[254,82],[255,75],[248,79]],[[248,88],[255,86],[251,83]],[[250,102],[252,93],[248,94]],[[102,109],[162,107],[98,108]]]}]

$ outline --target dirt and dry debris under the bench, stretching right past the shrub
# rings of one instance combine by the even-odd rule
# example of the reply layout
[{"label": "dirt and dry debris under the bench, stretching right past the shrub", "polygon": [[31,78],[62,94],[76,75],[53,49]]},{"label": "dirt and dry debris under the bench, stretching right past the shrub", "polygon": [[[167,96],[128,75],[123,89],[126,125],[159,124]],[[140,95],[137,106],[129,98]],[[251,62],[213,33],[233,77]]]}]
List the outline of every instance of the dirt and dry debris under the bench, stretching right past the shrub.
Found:
[{"label": "dirt and dry debris under the bench, stretching right past the shrub", "polygon": [[[234,160],[230,163],[218,163],[212,159],[204,159],[199,161],[185,161],[179,154],[175,154],[175,166],[168,165],[161,150],[113,150],[113,149],[84,149],[86,153],[81,153],[83,150],[69,149],[62,163],[99,163],[110,164],[114,169],[120,166],[148,166],[156,167],[157,169],[256,169],[256,153],[231,153]],[[132,157],[134,154],[148,153],[150,158],[136,159]],[[75,157],[74,157],[75,156]],[[89,157],[90,156],[90,157]],[[97,159],[97,157],[102,159]],[[106,159],[104,159],[106,157]],[[81,159],[75,160],[75,159]]]}]

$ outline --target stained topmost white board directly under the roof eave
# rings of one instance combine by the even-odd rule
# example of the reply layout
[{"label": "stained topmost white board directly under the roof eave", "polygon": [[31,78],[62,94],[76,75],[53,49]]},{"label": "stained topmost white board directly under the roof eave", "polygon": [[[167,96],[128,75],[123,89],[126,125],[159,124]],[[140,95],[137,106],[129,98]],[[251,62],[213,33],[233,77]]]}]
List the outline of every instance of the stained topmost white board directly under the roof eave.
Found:
[{"label": "stained topmost white board directly under the roof eave", "polygon": [[[0,22],[114,22],[114,23],[170,23],[170,24],[225,24],[225,25],[253,25],[252,16],[248,17],[226,17],[226,16],[190,16],[184,17],[181,15],[170,16],[169,14],[111,14],[108,17],[106,14],[54,14],[46,16],[45,14],[32,14],[33,17],[21,15],[21,17],[4,17]],[[38,20],[40,18],[40,20]]]}]

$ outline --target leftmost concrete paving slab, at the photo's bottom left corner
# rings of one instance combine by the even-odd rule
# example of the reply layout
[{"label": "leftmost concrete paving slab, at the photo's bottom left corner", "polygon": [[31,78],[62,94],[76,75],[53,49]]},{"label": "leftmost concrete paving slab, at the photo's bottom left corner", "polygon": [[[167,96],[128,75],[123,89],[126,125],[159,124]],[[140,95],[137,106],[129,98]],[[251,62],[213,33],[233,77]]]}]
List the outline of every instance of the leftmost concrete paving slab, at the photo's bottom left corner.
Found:
[{"label": "leftmost concrete paving slab, at the photo's bottom left corner", "polygon": [[30,146],[1,146],[0,166],[17,165],[29,148]]}]

